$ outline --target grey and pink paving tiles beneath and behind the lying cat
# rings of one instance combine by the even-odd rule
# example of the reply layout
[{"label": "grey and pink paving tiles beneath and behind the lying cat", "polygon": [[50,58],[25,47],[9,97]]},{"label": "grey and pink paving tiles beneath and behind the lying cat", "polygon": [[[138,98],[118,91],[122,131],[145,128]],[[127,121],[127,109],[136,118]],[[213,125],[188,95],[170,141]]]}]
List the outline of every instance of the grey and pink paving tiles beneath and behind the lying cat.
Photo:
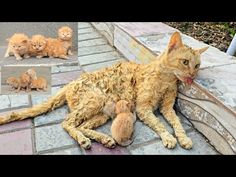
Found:
[{"label": "grey and pink paving tiles beneath and behind the lying cat", "polygon": [[[76,79],[82,72],[94,71],[125,60],[124,56],[110,46],[90,23],[79,23],[78,34],[79,66],[52,67],[52,94],[69,81]],[[0,114],[31,107],[43,102],[49,96],[0,95]],[[178,114],[181,122],[194,142],[191,150],[184,150],[180,146],[173,150],[164,148],[160,137],[140,121],[135,124],[135,140],[130,146],[107,149],[93,142],[90,150],[83,150],[60,125],[67,113],[67,106],[63,106],[35,119],[0,126],[0,154],[218,154],[180,113]],[[158,112],[156,114],[159,115]],[[161,121],[173,133],[163,117]],[[110,134],[110,125],[111,122],[108,122],[98,128],[98,131]]]}]

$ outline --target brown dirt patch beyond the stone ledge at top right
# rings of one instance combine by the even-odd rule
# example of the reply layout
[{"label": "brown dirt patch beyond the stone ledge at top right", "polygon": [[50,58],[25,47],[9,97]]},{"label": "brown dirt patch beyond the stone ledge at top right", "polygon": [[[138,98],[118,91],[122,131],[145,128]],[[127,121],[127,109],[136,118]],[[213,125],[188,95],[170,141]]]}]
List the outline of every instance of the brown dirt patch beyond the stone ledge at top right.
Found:
[{"label": "brown dirt patch beyond the stone ledge at top right", "polygon": [[234,34],[236,22],[165,22],[182,33],[226,52]]}]

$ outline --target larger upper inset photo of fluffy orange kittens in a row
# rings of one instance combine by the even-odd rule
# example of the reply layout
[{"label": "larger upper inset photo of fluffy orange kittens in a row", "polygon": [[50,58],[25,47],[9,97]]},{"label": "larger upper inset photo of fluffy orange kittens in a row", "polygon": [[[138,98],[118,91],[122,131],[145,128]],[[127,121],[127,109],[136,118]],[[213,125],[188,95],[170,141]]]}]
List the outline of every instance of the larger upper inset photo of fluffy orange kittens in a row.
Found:
[{"label": "larger upper inset photo of fluffy orange kittens in a row", "polygon": [[77,29],[76,22],[1,22],[0,65],[76,65]]}]

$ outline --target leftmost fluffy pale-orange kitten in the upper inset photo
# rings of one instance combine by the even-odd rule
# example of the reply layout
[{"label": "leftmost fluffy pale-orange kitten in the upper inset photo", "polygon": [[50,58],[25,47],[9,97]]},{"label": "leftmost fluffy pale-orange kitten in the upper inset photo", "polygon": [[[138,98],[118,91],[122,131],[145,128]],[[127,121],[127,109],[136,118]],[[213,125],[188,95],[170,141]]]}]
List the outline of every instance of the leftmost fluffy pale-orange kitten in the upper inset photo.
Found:
[{"label": "leftmost fluffy pale-orange kitten in the upper inset photo", "polygon": [[8,47],[5,53],[5,58],[14,55],[16,60],[29,58],[29,38],[23,33],[16,33],[10,39],[7,39]]}]

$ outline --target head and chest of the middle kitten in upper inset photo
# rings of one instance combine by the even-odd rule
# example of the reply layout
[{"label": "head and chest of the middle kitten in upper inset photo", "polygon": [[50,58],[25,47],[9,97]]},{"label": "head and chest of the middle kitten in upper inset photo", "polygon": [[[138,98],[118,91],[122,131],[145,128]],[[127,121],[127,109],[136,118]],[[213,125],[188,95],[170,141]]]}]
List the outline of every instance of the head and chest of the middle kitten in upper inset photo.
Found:
[{"label": "head and chest of the middle kitten in upper inset photo", "polygon": [[47,39],[43,35],[34,35],[30,39],[29,55],[36,58],[47,56]]}]

